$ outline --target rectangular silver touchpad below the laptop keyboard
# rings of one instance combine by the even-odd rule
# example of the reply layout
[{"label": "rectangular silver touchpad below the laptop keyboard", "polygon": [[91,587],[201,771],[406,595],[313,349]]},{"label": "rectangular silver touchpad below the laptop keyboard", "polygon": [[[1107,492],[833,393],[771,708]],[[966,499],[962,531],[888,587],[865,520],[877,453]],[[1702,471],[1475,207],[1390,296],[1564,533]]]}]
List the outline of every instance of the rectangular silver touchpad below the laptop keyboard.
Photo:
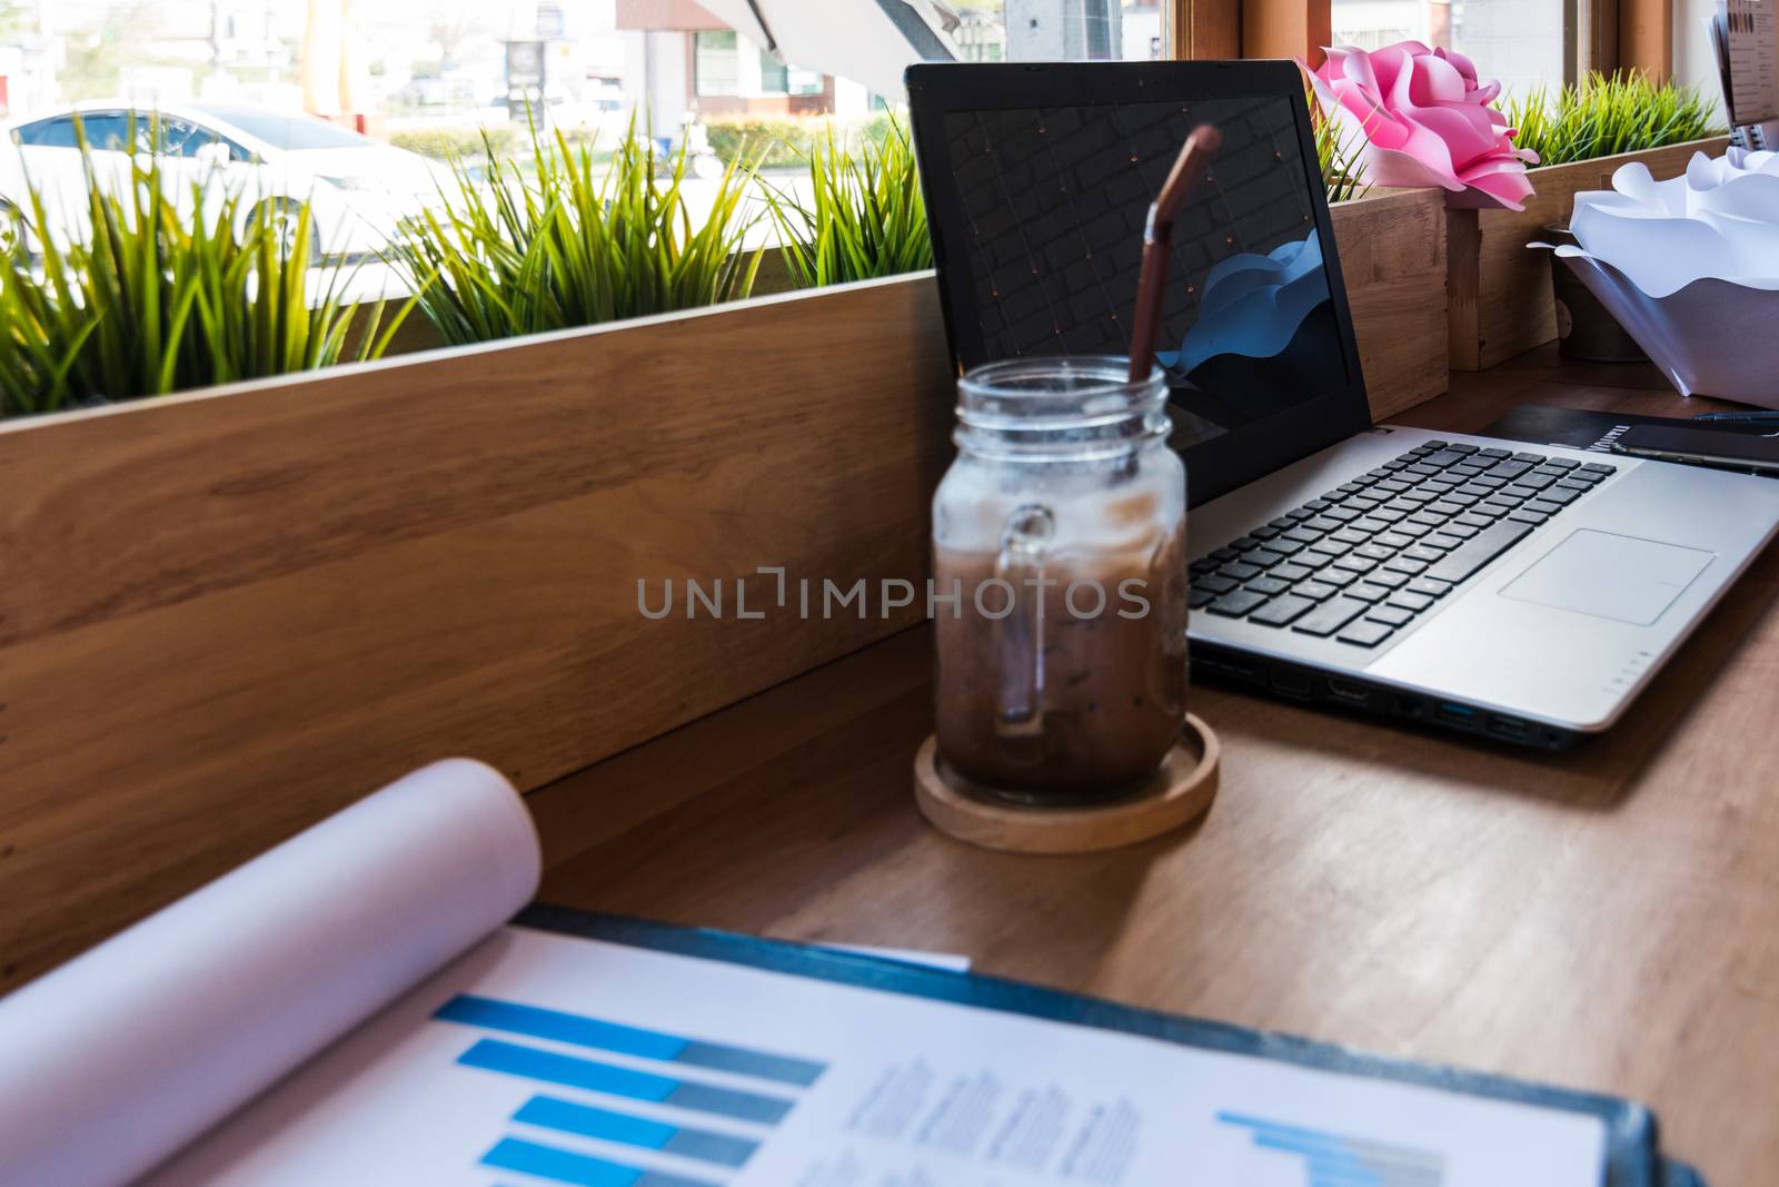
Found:
[{"label": "rectangular silver touchpad below the laptop keyboard", "polygon": [[1514,578],[1501,596],[1649,626],[1715,555],[1583,529]]}]

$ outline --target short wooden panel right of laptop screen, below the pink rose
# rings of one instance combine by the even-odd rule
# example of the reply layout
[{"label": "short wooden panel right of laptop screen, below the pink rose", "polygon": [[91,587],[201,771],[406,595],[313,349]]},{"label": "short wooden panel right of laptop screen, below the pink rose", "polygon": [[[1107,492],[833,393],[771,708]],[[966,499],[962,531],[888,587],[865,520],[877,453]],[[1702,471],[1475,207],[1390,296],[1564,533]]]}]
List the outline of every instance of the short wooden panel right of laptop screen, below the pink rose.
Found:
[{"label": "short wooden panel right of laptop screen, below the pink rose", "polygon": [[1329,208],[1372,420],[1446,390],[1445,190],[1377,190]]}]

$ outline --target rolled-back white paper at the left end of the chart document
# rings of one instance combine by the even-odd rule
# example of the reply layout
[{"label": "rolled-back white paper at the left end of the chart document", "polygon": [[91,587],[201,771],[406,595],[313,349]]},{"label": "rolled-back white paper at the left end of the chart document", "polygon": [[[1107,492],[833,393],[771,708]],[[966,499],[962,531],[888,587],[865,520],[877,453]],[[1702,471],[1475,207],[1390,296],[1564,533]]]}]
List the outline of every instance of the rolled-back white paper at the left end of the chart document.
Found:
[{"label": "rolled-back white paper at the left end of the chart document", "polygon": [[512,785],[391,783],[0,998],[0,1183],[144,1175],[537,892]]}]

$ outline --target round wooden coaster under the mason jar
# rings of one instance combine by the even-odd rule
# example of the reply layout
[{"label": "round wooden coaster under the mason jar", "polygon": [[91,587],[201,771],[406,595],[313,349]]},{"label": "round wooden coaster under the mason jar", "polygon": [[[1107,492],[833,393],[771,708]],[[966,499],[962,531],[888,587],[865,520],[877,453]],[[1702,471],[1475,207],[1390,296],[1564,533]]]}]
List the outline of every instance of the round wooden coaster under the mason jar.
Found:
[{"label": "round wooden coaster under the mason jar", "polygon": [[914,801],[939,831],[1009,852],[1091,852],[1160,836],[1194,820],[1217,799],[1217,733],[1187,714],[1179,742],[1155,778],[1123,799],[1046,808],[1018,804],[939,765],[934,737],[914,756]]}]

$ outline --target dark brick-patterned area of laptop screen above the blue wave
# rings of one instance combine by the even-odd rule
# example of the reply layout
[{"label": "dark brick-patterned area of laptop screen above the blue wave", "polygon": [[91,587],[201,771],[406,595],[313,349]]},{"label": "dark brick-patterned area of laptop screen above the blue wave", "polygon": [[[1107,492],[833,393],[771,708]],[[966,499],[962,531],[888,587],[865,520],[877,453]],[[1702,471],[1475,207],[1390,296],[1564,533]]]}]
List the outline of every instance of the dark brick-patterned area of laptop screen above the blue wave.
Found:
[{"label": "dark brick-patterned area of laptop screen above the blue wave", "polygon": [[1265,254],[1315,228],[1288,103],[1210,100],[948,117],[986,358],[1128,349],[1149,203],[1201,123],[1219,126],[1224,148],[1174,222],[1156,340],[1163,351],[1176,349],[1197,317],[1199,285],[1213,263],[1244,251]]}]

